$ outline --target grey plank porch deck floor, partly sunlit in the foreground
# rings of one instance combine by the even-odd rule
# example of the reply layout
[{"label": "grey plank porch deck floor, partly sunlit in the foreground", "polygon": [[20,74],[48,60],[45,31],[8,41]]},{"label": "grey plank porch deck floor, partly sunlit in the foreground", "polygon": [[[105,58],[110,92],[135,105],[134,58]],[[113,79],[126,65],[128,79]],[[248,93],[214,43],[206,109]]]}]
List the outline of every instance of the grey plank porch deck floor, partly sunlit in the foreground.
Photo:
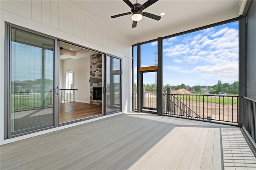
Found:
[{"label": "grey plank porch deck floor, partly sunlit in the foreground", "polygon": [[127,113],[0,146],[1,169],[256,169],[240,128]]}]

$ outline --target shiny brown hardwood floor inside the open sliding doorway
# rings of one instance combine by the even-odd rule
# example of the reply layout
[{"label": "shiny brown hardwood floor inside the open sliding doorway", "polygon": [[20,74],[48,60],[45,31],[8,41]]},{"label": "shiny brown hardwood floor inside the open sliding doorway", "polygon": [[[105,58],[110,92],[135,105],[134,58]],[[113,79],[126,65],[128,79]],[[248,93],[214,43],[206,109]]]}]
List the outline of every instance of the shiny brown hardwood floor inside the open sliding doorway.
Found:
[{"label": "shiny brown hardwood floor inside the open sliding doorway", "polygon": [[100,105],[88,103],[60,103],[60,123],[83,119],[102,114]]}]

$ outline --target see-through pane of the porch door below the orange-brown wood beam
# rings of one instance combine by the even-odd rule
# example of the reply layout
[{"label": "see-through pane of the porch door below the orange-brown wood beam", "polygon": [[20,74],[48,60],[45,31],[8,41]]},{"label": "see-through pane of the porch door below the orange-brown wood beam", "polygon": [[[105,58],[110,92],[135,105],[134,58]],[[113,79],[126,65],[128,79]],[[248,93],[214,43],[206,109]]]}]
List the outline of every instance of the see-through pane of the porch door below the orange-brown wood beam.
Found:
[{"label": "see-through pane of the porch door below the orange-brown wood beam", "polygon": [[156,71],[143,72],[142,109],[156,111]]}]

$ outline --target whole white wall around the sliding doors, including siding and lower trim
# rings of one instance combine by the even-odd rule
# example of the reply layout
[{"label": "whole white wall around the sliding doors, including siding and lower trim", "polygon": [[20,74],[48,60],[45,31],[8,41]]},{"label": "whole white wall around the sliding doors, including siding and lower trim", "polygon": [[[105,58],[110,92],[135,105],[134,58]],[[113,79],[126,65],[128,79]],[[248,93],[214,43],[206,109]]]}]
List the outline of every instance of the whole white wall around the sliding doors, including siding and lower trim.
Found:
[{"label": "whole white wall around the sliding doors, including siding and lower trim", "polygon": [[[0,145],[60,129],[4,140],[5,22],[122,58],[122,111],[131,111],[132,38],[66,1],[0,0]],[[106,116],[107,117],[107,116]],[[74,126],[63,126],[61,128]]]}]

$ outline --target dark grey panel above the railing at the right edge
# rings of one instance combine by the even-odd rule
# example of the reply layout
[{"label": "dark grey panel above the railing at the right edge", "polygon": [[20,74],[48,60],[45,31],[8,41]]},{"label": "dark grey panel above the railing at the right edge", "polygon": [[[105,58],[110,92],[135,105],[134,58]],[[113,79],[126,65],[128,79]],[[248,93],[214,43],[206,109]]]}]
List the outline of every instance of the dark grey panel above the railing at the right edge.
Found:
[{"label": "dark grey panel above the railing at the right edge", "polygon": [[247,42],[246,42],[246,97],[256,100],[256,1],[247,13]]}]

